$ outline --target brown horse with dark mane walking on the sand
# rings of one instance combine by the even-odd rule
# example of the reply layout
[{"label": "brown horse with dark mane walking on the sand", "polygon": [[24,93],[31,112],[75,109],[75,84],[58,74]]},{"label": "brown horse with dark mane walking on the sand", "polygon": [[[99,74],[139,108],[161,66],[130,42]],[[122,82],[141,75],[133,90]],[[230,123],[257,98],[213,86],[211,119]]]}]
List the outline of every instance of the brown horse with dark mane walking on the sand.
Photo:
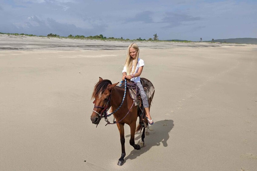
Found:
[{"label": "brown horse with dark mane walking on the sand", "polygon": [[[92,94],[92,99],[94,100],[94,110],[91,115],[91,121],[94,124],[99,124],[100,120],[103,118],[103,113],[106,112],[110,106],[112,109],[117,109],[122,100],[124,95],[124,88],[116,86],[118,83],[112,84],[110,80],[103,80],[99,77],[99,82],[96,83],[94,87],[94,91]],[[124,102],[119,110],[116,113],[113,113],[114,118],[117,121],[117,127],[120,131],[120,143],[121,143],[121,157],[117,163],[117,165],[122,166],[124,163],[124,157],[126,156],[125,153],[125,137],[124,137],[124,124],[128,124],[130,126],[130,145],[134,147],[136,150],[140,150],[141,147],[144,145],[144,137],[145,137],[145,128],[142,125],[138,124],[136,127],[137,117],[139,116],[139,111],[137,106],[134,105],[133,99],[128,94],[129,91],[126,90],[126,96],[124,98]],[[152,97],[149,98],[149,108],[154,97],[154,92]],[[127,115],[127,116],[126,116]],[[106,118],[106,117],[105,117]],[[107,121],[108,123],[108,121]],[[147,130],[149,128],[148,122],[145,119],[145,123],[147,124]],[[141,131],[143,129],[143,133],[140,140],[140,145],[135,144],[135,133]],[[149,134],[147,131],[146,133]]]}]

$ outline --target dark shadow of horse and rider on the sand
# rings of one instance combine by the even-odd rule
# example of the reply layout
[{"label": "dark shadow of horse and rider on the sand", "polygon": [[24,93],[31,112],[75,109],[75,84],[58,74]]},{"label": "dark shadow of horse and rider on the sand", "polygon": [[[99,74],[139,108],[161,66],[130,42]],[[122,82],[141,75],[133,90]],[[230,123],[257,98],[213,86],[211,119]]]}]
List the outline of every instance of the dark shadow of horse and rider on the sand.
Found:
[{"label": "dark shadow of horse and rider on the sand", "polygon": [[[145,136],[144,139],[144,147],[141,150],[132,150],[128,156],[124,158],[125,162],[127,159],[135,159],[143,153],[146,153],[152,146],[163,145],[167,147],[167,140],[169,139],[170,131],[174,127],[173,120],[160,120],[154,122],[153,125],[150,126],[150,134]],[[126,137],[130,137],[130,134]],[[141,139],[141,132],[135,135],[135,143],[139,144]],[[138,141],[137,141],[138,140]]]}]

